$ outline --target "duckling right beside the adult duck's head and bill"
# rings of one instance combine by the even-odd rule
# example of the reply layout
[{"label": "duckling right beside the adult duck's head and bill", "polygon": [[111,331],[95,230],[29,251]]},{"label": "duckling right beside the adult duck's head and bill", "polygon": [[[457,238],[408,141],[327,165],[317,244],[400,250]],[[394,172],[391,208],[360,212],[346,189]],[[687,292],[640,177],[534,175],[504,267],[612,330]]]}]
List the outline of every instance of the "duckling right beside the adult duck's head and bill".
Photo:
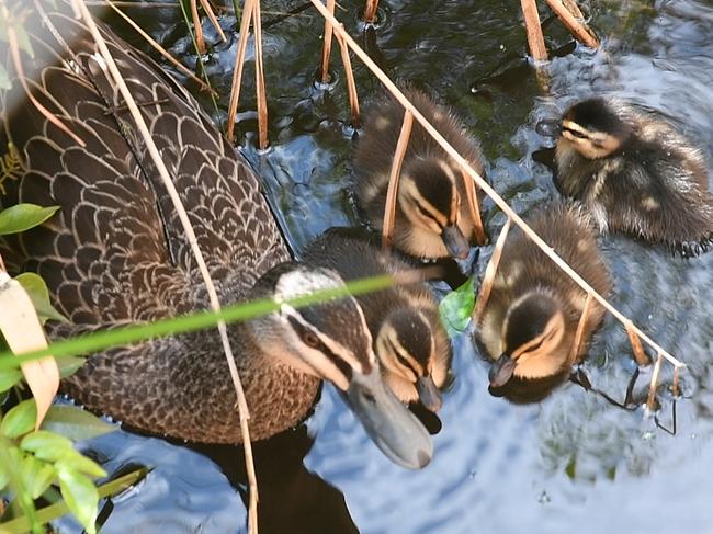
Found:
[{"label": "duckling right beside the adult duck's head and bill", "polygon": [[[307,264],[329,268],[346,281],[412,269],[370,242],[363,234],[332,228],[305,251]],[[451,343],[440,323],[438,303],[422,284],[389,287],[356,297],[374,338],[386,385],[403,402],[420,400],[437,412],[448,377]]]}]

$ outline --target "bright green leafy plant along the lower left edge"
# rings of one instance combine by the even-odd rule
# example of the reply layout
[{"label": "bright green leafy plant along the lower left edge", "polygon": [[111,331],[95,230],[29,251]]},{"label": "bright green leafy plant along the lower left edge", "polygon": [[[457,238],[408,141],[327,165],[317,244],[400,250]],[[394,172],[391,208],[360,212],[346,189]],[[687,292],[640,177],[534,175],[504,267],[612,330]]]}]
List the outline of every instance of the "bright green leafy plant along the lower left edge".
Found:
[{"label": "bright green leafy plant along the lower left edge", "polygon": [[[19,204],[3,209],[0,212],[0,235],[16,234],[38,226],[57,209],[33,204]],[[66,320],[49,303],[47,286],[38,275],[23,273],[15,281],[30,296],[42,323],[47,319]],[[0,293],[2,291],[0,287]],[[3,303],[9,304],[12,303]],[[0,329],[3,328],[8,326],[0,325]],[[2,338],[0,344],[4,344]],[[76,365],[66,367],[65,372],[76,368]],[[13,388],[18,397],[22,396],[23,378],[23,373],[16,367],[0,370],[0,395],[3,404]],[[113,430],[113,425],[79,408],[70,407],[50,407],[42,421],[42,428],[37,429],[37,407],[34,398],[22,400],[2,414],[0,491],[8,496],[11,492],[11,502],[18,504],[33,532],[44,532],[34,501],[45,495],[53,485],[59,487],[67,509],[87,532],[95,531],[99,492],[92,479],[103,477],[106,473],[80,454],[72,440],[93,438]]]}]

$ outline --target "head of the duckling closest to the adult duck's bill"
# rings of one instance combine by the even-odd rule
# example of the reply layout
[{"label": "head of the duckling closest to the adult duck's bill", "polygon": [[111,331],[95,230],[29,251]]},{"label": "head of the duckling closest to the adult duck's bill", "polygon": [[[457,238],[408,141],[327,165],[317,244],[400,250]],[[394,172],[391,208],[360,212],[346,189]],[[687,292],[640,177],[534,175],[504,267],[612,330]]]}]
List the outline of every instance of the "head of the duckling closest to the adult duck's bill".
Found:
[{"label": "head of the duckling closest to the adult duck's bill", "polygon": [[432,412],[441,409],[443,399],[433,379],[439,365],[435,340],[423,314],[408,307],[392,311],[376,336],[376,355],[396,397],[404,402],[420,400]]}]

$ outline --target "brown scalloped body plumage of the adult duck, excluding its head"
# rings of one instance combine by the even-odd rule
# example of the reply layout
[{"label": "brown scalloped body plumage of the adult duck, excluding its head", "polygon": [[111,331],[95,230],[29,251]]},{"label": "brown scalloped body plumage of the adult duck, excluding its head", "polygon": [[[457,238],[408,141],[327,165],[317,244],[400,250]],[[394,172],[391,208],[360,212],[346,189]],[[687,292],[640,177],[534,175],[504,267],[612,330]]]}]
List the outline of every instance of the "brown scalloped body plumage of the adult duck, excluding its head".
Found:
[{"label": "brown scalloped body plumage of the adult duck, excluding its head", "polygon": [[[25,172],[4,183],[0,208],[58,205],[42,227],[0,240],[11,272],[38,272],[70,323],[50,338],[206,309],[208,299],[171,202],[112,88],[95,46],[77,21],[53,14],[75,56],[49,34],[33,38],[39,67],[33,92],[87,143],[77,145],[24,100],[3,110],[2,147],[12,140]],[[109,42],[188,208],[223,303],[249,297],[254,282],[290,259],[258,179],[196,101],[109,30]],[[65,61],[58,53],[61,50]],[[4,50],[3,50],[4,52]],[[4,57],[4,56],[3,56]],[[30,59],[23,57],[30,72]],[[229,327],[250,408],[253,439],[297,423],[319,380],[268,360],[242,326]],[[201,442],[240,441],[235,391],[215,331],[177,336],[94,354],[64,382],[87,407],[133,427]]]}]

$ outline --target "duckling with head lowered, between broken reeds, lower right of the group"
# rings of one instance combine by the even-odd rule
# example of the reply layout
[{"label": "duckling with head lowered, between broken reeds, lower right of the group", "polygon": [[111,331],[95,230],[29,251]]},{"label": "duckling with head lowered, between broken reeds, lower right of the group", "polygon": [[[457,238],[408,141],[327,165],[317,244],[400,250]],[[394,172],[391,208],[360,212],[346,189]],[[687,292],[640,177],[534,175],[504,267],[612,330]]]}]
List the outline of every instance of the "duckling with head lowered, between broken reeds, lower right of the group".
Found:
[{"label": "duckling with head lowered, between broken reeds, lower right of the group", "polygon": [[[580,206],[557,203],[528,219],[554,251],[598,293],[611,288],[593,224]],[[580,350],[573,343],[587,294],[519,229],[508,236],[477,339],[493,359],[490,393],[513,402],[545,398],[569,376],[603,308],[592,302]]]}]

